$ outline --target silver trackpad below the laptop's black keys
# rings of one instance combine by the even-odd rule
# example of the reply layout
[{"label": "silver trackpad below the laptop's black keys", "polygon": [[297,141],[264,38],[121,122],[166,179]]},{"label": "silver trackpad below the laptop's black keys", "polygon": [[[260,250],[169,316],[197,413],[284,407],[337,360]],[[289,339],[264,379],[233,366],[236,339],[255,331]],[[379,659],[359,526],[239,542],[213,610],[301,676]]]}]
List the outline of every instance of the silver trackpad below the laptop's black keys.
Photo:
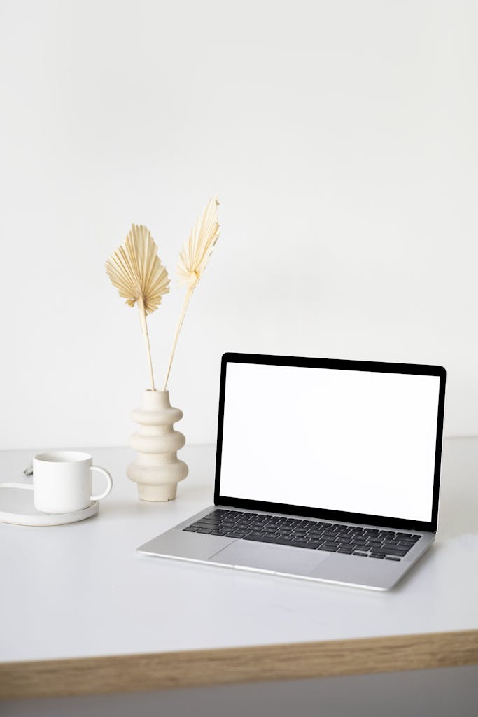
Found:
[{"label": "silver trackpad below the laptop's black keys", "polygon": [[309,575],[329,555],[330,553],[320,554],[315,550],[301,550],[270,543],[236,541],[211,556],[210,560],[214,563],[224,561],[227,565],[272,570],[277,573]]}]

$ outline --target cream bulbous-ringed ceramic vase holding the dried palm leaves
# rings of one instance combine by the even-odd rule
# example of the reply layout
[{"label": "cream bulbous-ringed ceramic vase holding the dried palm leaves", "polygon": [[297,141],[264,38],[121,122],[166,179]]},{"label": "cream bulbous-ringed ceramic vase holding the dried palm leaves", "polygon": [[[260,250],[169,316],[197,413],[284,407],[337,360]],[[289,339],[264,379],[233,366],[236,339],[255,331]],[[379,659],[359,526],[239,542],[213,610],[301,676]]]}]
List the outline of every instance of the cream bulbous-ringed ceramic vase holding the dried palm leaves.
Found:
[{"label": "cream bulbous-ringed ceramic vase holding the dried palm leaves", "polygon": [[186,463],[176,455],[186,438],[173,429],[183,412],[171,407],[169,391],[145,391],[131,417],[140,429],[130,438],[138,455],[126,469],[128,478],[138,483],[141,500],[174,500],[178,482],[188,475]]}]

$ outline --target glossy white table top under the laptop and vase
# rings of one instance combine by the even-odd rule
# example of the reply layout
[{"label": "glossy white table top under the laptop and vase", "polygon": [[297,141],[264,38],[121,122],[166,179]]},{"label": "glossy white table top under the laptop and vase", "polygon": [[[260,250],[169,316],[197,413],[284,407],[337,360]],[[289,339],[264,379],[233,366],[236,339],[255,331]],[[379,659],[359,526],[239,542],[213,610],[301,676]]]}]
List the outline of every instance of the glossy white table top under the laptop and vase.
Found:
[{"label": "glossy white table top under the laptop and vase", "polygon": [[[444,442],[436,543],[391,592],[140,556],[135,548],[213,503],[214,447],[181,451],[171,503],[143,503],[133,453],[92,449],[113,474],[82,523],[0,524],[0,662],[409,635],[478,627],[478,439]],[[27,480],[30,451],[0,453],[0,480]]]}]

